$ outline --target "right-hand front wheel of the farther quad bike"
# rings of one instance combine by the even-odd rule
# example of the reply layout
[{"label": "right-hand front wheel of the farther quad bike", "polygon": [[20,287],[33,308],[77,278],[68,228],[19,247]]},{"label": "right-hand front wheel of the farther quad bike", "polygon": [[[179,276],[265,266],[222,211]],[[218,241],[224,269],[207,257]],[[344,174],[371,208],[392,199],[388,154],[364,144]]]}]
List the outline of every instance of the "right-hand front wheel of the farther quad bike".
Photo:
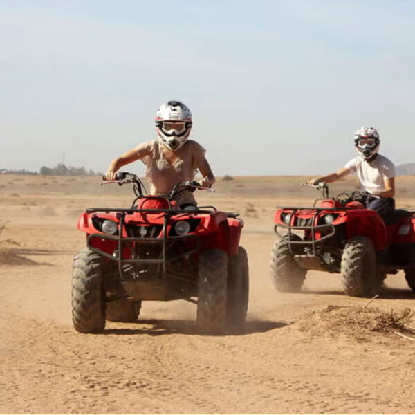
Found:
[{"label": "right-hand front wheel of the farther quad bike", "polygon": [[382,281],[376,268],[376,251],[370,239],[349,239],[342,253],[344,292],[352,297],[370,297],[377,294]]}]

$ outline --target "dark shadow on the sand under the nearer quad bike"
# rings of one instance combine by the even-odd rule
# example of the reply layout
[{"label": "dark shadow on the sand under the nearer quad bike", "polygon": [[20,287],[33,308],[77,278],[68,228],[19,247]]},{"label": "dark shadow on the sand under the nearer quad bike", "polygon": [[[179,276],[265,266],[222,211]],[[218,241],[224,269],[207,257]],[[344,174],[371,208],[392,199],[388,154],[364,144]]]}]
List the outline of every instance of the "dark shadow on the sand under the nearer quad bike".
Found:
[{"label": "dark shadow on the sand under the nearer quad bike", "polygon": [[[116,335],[165,335],[165,334],[189,334],[197,333],[196,322],[190,320],[138,320],[136,324],[147,324],[151,327],[144,329],[134,329],[133,326],[127,329],[107,329],[102,334],[116,334]],[[135,325],[135,324],[134,324]],[[264,333],[273,329],[279,329],[286,326],[287,323],[271,322],[263,320],[247,321],[242,329],[232,330],[228,329],[221,336],[224,335],[246,335],[252,333]]]}]

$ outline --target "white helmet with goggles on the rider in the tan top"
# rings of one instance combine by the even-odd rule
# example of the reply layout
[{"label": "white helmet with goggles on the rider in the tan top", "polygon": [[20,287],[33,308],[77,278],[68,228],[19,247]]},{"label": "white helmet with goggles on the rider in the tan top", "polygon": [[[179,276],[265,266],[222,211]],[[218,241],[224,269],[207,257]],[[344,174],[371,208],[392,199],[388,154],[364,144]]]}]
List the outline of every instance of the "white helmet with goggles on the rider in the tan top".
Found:
[{"label": "white helmet with goggles on the rider in the tan top", "polygon": [[192,113],[185,104],[169,101],[158,107],[156,131],[163,145],[176,151],[185,142],[192,128]]}]

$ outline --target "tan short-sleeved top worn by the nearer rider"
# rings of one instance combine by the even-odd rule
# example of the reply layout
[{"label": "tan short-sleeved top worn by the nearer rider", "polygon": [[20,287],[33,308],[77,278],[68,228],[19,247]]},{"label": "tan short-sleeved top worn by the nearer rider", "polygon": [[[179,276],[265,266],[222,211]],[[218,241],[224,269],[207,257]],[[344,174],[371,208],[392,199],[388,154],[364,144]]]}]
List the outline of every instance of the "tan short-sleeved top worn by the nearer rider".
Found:
[{"label": "tan short-sleeved top worn by the nearer rider", "polygon": [[[137,152],[147,167],[145,175],[151,183],[151,194],[167,194],[179,182],[193,180],[199,166],[205,159],[205,149],[196,141],[187,140],[175,151],[178,158],[170,164],[159,140],[147,141],[138,145]],[[193,192],[183,192],[176,199],[179,204],[194,203]]]}]

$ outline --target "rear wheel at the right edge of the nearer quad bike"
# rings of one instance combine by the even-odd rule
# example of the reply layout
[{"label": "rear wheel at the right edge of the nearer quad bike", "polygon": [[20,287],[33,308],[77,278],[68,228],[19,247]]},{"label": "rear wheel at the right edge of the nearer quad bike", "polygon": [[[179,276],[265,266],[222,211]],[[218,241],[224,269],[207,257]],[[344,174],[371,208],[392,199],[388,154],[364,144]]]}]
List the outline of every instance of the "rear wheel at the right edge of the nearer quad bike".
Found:
[{"label": "rear wheel at the right edge of the nearer quad bike", "polygon": [[248,311],[249,273],[248,255],[239,246],[238,255],[231,259],[228,275],[228,304],[226,319],[230,329],[241,329]]}]

